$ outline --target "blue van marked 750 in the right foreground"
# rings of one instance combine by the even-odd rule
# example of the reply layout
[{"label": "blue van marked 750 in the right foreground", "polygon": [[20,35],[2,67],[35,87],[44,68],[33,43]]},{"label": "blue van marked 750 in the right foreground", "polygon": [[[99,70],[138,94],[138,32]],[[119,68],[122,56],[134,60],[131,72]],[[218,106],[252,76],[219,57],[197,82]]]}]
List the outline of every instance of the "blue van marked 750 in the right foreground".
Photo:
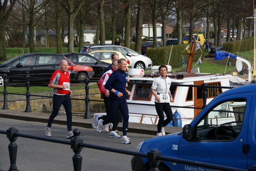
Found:
[{"label": "blue van marked 750 in the right foreground", "polygon": [[[158,149],[163,156],[248,169],[256,165],[256,84],[215,97],[180,133],[146,139],[136,151]],[[146,158],[132,158],[133,171],[148,171]],[[162,161],[160,171],[206,171],[204,167]]]}]

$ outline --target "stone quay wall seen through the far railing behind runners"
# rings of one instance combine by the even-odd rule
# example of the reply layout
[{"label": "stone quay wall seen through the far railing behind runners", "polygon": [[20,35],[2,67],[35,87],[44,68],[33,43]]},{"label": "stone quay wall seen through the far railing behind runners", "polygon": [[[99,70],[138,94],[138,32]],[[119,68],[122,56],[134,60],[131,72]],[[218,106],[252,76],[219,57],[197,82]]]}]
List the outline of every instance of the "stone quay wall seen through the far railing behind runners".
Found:
[{"label": "stone quay wall seen through the far railing behind runners", "polygon": [[[24,92],[25,94],[26,92]],[[44,95],[44,96],[52,96],[52,91],[44,91],[44,92],[34,92],[30,93],[30,95]],[[76,99],[85,99],[85,89],[72,89],[71,98]],[[103,100],[100,99],[100,90],[97,88],[89,89],[89,98],[94,100]],[[8,94],[8,108],[9,109],[17,109],[17,110],[26,110],[26,95],[13,95]],[[72,103],[72,113],[76,114],[84,114],[85,113],[85,101],[84,100],[71,100]],[[4,105],[4,96],[0,96],[0,107],[2,108]],[[42,113],[51,113],[52,112],[52,98],[49,97],[37,97],[30,96],[30,107],[32,111],[42,112]],[[64,110],[64,107],[60,107],[60,113]],[[90,101],[90,111],[91,112],[105,112],[105,106],[103,102],[98,101]]]}]

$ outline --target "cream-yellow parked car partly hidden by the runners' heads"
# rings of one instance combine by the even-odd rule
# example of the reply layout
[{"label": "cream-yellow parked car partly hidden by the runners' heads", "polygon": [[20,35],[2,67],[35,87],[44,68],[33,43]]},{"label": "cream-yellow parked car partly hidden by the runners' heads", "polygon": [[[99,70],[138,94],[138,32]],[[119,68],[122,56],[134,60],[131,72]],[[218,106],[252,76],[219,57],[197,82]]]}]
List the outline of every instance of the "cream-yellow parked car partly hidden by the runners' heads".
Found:
[{"label": "cream-yellow parked car partly hidden by the runners' heads", "polygon": [[[86,54],[89,54],[91,56],[93,56],[94,58],[102,61],[102,62],[107,62],[109,63],[109,65],[112,63],[111,61],[111,55],[112,54],[118,54],[119,55],[119,59],[120,58],[125,58],[126,62],[127,62],[127,72],[129,69],[132,68],[132,66],[130,66],[130,61],[129,59],[121,52],[121,51],[116,51],[116,50],[92,50],[92,51],[86,51],[84,52]],[[127,55],[130,55],[129,53]]]}]

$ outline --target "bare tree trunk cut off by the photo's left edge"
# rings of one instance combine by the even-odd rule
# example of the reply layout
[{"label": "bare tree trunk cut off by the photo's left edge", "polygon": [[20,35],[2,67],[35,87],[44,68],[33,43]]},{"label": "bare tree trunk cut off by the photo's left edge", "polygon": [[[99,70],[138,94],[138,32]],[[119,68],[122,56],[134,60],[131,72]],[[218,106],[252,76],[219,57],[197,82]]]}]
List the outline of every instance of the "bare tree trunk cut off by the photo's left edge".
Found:
[{"label": "bare tree trunk cut off by the photo's left edge", "polygon": [[12,9],[14,7],[14,4],[16,3],[16,0],[1,0],[1,6],[0,6],[0,60],[5,61],[7,60],[6,56],[6,21],[8,20],[8,17],[10,16]]}]

